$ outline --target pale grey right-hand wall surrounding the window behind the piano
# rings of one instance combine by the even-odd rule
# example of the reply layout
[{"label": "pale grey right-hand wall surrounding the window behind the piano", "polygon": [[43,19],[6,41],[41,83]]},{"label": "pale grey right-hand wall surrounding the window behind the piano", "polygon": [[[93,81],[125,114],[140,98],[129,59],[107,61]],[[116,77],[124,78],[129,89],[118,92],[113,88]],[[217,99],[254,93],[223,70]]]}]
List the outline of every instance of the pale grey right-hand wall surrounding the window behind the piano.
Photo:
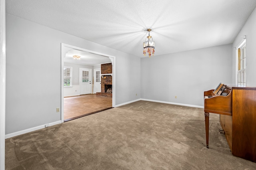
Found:
[{"label": "pale grey right-hand wall surrounding the window behind the piano", "polygon": [[[232,47],[237,47],[244,36],[246,36],[246,84],[247,86],[256,87],[256,9],[254,9],[242,30],[236,36]],[[232,50],[232,56],[232,78],[235,83],[237,70],[235,48]]]}]

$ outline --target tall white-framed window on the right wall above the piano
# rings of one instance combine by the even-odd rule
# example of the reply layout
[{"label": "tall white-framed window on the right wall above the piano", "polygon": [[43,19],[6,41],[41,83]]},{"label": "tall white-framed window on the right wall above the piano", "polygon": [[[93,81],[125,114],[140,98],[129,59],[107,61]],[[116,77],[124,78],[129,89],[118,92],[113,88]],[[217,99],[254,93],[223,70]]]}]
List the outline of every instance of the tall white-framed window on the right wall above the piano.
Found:
[{"label": "tall white-framed window on the right wall above the piano", "polygon": [[246,42],[237,49],[238,52],[238,85],[246,86]]}]

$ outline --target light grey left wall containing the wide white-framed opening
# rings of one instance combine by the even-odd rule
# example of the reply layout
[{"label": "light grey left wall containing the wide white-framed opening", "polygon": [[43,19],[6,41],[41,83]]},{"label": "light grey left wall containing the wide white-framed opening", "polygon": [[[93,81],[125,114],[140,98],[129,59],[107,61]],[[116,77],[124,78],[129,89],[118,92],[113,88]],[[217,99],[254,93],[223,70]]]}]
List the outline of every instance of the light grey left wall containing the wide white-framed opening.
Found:
[{"label": "light grey left wall containing the wide white-framed opening", "polygon": [[6,134],[61,120],[61,43],[116,56],[116,105],[140,99],[140,58],[8,14],[6,30]]}]

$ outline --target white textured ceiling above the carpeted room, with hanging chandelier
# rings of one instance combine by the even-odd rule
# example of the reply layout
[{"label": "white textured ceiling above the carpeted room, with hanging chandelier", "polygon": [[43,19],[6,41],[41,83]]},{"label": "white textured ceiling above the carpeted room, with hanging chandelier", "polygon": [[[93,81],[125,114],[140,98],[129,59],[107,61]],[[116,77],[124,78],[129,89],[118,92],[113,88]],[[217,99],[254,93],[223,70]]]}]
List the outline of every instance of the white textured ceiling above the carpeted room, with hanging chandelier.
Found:
[{"label": "white textured ceiling above the carpeted room, with hanging chandelier", "polygon": [[[6,0],[8,14],[144,57],[232,43],[256,0]],[[70,44],[72,45],[72,44]]]}]

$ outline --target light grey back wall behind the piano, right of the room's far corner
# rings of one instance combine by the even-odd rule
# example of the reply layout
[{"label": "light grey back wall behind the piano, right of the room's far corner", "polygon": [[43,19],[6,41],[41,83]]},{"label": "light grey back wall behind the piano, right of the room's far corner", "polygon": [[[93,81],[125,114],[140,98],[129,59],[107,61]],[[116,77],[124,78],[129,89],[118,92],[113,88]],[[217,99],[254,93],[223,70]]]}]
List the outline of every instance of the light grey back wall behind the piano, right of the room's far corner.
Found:
[{"label": "light grey back wall behind the piano, right of the room's far corner", "polygon": [[142,58],[141,98],[202,107],[204,91],[232,83],[231,61],[231,44]]}]

